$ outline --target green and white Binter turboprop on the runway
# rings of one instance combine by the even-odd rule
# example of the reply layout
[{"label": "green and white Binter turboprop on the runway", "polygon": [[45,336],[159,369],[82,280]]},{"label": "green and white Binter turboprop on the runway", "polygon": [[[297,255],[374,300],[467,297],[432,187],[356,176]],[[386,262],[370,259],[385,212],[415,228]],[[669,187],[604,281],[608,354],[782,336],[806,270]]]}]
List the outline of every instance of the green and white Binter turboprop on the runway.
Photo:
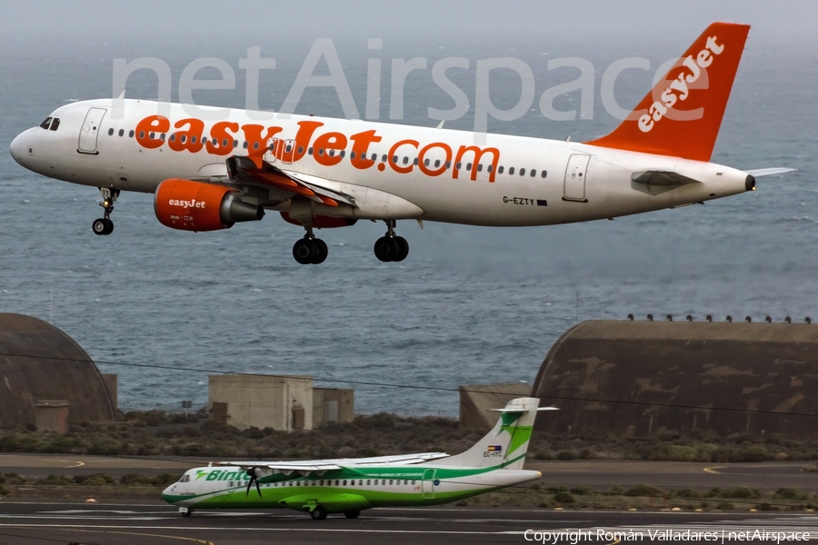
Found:
[{"label": "green and white Binter turboprop on the runway", "polygon": [[[222,461],[185,471],[162,493],[189,517],[198,509],[287,508],[349,519],[374,507],[428,506],[534,481],[523,469],[536,398],[509,401],[492,431],[455,456],[424,452],[317,461]],[[542,410],[551,410],[544,407]],[[254,489],[254,490],[253,490]]]}]

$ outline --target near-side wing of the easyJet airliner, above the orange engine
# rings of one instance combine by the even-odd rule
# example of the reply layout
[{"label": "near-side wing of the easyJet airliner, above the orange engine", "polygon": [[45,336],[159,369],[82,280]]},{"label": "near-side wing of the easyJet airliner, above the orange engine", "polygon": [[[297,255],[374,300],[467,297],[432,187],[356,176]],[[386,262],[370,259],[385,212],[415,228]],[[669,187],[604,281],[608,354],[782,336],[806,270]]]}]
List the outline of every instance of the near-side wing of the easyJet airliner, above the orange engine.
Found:
[{"label": "near-side wing of the easyJet airliner, above the orange engine", "polygon": [[351,195],[334,190],[334,183],[319,176],[284,171],[274,164],[262,161],[256,166],[248,157],[234,155],[227,159],[227,175],[231,180],[246,180],[260,185],[272,185],[284,192],[301,195],[315,203],[338,206],[339,203],[355,206]]}]

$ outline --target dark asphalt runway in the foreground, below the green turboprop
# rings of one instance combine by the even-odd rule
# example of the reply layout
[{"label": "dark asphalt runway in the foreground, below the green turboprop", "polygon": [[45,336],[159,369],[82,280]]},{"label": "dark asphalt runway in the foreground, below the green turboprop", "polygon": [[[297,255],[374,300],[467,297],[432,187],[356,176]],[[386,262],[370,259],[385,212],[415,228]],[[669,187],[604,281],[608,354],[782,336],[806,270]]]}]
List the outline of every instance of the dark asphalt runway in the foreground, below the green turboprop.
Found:
[{"label": "dark asphalt runway in the foreground, below the green turboprop", "polygon": [[[577,530],[582,542],[625,541],[627,532],[642,532],[643,540],[656,532],[712,532],[725,543],[744,542],[737,532],[799,532],[818,537],[818,516],[781,513],[693,513],[484,509],[378,509],[357,520],[331,516],[314,521],[302,513],[282,510],[195,512],[182,518],[160,502],[137,505],[122,502],[0,501],[0,544],[45,545],[94,543],[212,543],[252,545],[287,543],[525,543],[565,542]],[[526,530],[529,530],[526,533]],[[547,532],[537,534],[536,532]],[[573,532],[573,533],[572,533]],[[714,533],[713,533],[714,532]],[[733,532],[731,534],[730,532]],[[804,536],[803,532],[809,532]],[[745,534],[746,535],[746,534]],[[730,539],[730,538],[733,539]],[[526,540],[528,538],[528,540]],[[693,540],[693,542],[703,540]],[[721,539],[718,539],[721,542]],[[570,542],[570,541],[569,541]]]}]

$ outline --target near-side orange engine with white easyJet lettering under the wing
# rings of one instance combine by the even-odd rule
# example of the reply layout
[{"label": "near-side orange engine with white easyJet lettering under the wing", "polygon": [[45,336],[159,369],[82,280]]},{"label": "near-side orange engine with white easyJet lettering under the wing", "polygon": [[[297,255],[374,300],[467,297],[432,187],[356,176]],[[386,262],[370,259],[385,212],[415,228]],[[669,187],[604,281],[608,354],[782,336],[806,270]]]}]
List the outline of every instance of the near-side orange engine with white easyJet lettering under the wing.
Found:
[{"label": "near-side orange engine with white easyJet lettering under the wing", "polygon": [[183,231],[217,231],[264,217],[264,208],[244,203],[236,193],[224,185],[171,178],[156,188],[154,212],[159,223]]}]

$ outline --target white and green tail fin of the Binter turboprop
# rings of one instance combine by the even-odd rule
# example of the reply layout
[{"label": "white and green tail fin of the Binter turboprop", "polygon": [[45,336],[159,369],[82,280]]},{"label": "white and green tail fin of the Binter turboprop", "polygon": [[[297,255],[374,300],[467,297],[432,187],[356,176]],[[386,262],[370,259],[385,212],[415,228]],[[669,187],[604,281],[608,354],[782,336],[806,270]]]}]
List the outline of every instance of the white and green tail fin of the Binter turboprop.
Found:
[{"label": "white and green tail fin of the Binter turboprop", "polygon": [[[458,465],[469,467],[504,467],[510,470],[523,469],[528,441],[537,415],[537,398],[517,398],[509,401],[504,409],[493,409],[500,413],[500,419],[492,431],[474,443],[461,454],[435,461],[437,465]],[[543,407],[539,411],[555,410]]]}]

